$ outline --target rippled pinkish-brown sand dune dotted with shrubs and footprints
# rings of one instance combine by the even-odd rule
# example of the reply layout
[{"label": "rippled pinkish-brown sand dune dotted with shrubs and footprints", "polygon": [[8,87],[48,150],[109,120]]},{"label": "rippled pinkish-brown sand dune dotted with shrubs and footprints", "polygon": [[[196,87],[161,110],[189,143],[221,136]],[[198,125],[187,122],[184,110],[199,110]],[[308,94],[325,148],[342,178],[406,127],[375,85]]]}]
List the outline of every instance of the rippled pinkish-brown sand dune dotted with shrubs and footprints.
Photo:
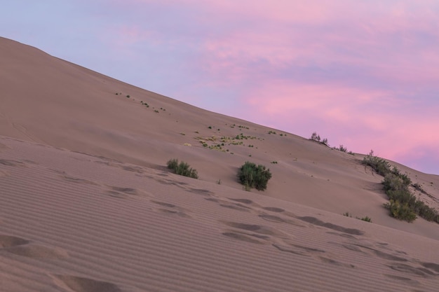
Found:
[{"label": "rippled pinkish-brown sand dune dotted with shrubs and footprints", "polygon": [[[363,155],[8,39],[0,64],[0,291],[438,291],[439,225],[391,218]],[[391,164],[439,209],[439,176]]]}]

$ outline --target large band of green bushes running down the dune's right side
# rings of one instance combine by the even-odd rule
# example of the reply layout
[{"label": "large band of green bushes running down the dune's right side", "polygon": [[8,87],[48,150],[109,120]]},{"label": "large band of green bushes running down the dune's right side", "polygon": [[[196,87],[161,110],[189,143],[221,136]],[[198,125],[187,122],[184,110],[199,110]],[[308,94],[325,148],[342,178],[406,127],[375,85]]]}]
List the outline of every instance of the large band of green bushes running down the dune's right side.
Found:
[{"label": "large band of green bushes running down the dune's right side", "polygon": [[[363,165],[370,166],[377,174],[384,176],[382,181],[383,189],[389,197],[389,202],[384,204],[389,209],[390,215],[394,218],[412,222],[417,215],[427,221],[439,223],[439,214],[436,209],[429,207],[427,204],[418,200],[410,191],[409,186],[412,181],[407,174],[402,174],[396,167],[386,160],[374,156],[373,151],[363,158]],[[416,189],[417,187],[413,185]],[[419,185],[417,185],[419,188]]]}]

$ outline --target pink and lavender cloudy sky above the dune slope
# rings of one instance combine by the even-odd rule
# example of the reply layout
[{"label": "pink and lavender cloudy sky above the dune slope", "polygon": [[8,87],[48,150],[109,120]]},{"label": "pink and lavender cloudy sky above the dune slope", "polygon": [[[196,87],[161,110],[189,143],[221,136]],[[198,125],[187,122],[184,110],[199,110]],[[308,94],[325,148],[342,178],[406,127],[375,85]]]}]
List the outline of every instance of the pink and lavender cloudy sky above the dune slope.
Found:
[{"label": "pink and lavender cloudy sky above the dune slope", "polygon": [[437,0],[15,0],[0,36],[439,174]]}]

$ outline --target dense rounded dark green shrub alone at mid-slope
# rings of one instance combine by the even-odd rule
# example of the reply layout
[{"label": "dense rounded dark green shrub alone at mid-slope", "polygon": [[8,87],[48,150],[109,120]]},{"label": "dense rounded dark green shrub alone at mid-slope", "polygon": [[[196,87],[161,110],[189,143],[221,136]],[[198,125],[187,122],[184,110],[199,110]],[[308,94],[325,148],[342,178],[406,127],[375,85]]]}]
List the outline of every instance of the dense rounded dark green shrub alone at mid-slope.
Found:
[{"label": "dense rounded dark green shrub alone at mid-slope", "polygon": [[238,170],[238,179],[245,186],[245,190],[250,190],[250,188],[266,190],[266,184],[271,179],[271,172],[264,165],[255,165],[253,162],[246,161]]}]

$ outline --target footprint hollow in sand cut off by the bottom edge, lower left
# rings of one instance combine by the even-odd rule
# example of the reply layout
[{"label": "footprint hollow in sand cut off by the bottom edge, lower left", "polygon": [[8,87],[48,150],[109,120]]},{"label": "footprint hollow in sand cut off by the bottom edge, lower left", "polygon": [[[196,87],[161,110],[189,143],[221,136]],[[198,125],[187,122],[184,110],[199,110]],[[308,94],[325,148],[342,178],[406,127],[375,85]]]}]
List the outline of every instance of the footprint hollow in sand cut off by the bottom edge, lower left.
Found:
[{"label": "footprint hollow in sand cut off by the bottom edge, lower left", "polygon": [[119,286],[107,281],[57,274],[53,281],[63,290],[74,292],[123,292]]}]

